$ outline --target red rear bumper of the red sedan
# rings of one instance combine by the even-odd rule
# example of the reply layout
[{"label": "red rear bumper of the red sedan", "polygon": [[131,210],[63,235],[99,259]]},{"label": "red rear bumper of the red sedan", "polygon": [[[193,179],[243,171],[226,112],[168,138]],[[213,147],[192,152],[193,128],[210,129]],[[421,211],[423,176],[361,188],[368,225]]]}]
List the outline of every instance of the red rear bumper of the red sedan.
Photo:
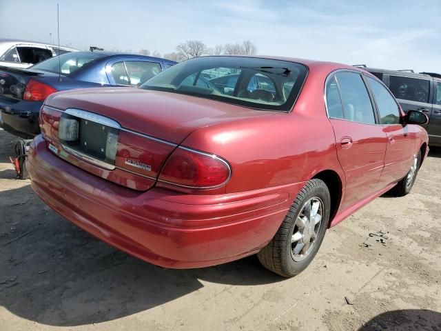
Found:
[{"label": "red rear bumper of the red sedan", "polygon": [[140,259],[198,268],[240,259],[274,236],[304,183],[221,195],[139,192],[76,168],[37,136],[27,158],[32,188],[63,217]]}]

